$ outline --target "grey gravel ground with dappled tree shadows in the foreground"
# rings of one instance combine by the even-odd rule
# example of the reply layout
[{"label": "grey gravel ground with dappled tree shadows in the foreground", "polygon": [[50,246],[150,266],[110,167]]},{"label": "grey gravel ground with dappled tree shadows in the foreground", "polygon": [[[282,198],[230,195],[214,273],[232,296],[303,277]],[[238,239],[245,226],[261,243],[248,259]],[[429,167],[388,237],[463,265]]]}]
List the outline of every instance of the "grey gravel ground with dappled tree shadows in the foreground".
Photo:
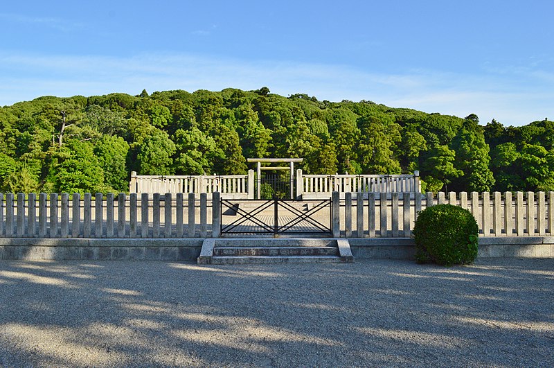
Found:
[{"label": "grey gravel ground with dappled tree shadows in the foreground", "polygon": [[0,261],[2,367],[553,367],[554,259]]}]

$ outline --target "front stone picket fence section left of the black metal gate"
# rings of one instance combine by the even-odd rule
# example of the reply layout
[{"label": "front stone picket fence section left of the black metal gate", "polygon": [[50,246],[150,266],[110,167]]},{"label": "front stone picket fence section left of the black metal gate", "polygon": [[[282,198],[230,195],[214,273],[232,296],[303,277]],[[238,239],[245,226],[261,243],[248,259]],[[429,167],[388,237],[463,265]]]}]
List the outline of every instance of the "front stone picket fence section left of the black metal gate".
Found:
[{"label": "front stone picket fence section left of the black metal gate", "polygon": [[6,238],[206,238],[212,215],[206,193],[0,193]]}]

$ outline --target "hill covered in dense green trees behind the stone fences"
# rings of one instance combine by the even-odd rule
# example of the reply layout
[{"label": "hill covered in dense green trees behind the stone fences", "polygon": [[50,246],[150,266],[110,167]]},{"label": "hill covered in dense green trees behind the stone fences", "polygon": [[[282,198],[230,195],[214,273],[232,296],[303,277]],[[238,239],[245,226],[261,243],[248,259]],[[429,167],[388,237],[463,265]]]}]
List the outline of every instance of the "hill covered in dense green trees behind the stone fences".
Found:
[{"label": "hill covered in dense green trees behind the stone fences", "polygon": [[0,108],[0,192],[127,191],[129,173],[245,173],[304,157],[305,173],[420,170],[425,191],[553,191],[554,123],[504,127],[296,94],[224,89],[45,96]]}]

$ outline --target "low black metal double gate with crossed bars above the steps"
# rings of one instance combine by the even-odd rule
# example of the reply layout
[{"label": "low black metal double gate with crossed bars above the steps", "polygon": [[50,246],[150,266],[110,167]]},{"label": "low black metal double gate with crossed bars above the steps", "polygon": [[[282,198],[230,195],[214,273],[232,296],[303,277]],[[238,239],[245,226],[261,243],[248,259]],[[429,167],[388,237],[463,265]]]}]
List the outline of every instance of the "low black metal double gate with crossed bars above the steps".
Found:
[{"label": "low black metal double gate with crossed bars above the steps", "polygon": [[221,234],[330,235],[331,200],[221,200]]}]

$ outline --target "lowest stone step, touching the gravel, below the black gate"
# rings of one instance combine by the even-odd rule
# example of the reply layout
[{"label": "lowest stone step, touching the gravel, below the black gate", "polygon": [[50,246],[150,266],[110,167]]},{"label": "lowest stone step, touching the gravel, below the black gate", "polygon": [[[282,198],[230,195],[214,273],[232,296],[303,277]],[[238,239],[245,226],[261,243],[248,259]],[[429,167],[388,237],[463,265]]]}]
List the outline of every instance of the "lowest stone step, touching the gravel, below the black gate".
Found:
[{"label": "lowest stone step, touching the gravel, below the black gate", "polygon": [[260,263],[343,263],[339,256],[213,256],[213,265]]}]

